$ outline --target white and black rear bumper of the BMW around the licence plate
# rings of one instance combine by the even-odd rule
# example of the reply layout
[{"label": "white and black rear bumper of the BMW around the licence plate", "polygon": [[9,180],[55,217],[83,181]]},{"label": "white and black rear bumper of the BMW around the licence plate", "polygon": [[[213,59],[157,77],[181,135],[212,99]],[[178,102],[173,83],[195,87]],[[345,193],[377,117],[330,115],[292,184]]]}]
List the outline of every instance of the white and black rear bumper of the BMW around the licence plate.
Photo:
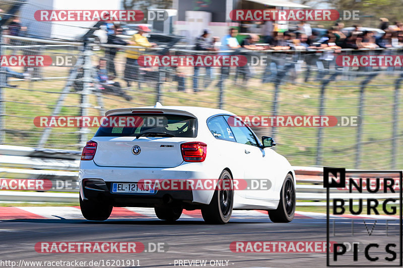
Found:
[{"label": "white and black rear bumper of the BMW around the licence plate", "polygon": [[[107,167],[98,166],[94,161],[81,161],[79,171],[80,195],[82,199],[96,199],[107,201],[115,206],[149,207],[164,204],[163,198],[169,195],[173,202],[189,205],[210,204],[213,198],[213,190],[179,190],[157,191],[155,194],[115,194],[111,193],[111,183],[127,182],[137,183],[140,180],[194,180],[206,178],[218,178],[211,168],[206,168],[203,163],[184,163],[172,168],[150,167]],[[83,188],[83,180],[86,178],[98,178],[106,183],[104,191]]]}]

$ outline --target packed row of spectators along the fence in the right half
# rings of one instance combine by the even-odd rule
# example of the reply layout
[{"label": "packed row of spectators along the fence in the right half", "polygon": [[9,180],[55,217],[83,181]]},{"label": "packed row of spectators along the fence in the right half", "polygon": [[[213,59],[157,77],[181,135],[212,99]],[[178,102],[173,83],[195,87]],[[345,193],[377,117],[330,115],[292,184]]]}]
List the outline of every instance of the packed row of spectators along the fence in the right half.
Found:
[{"label": "packed row of spectators along the fence in the right half", "polygon": [[[218,38],[208,39],[210,31],[205,29],[201,36],[196,38],[195,50],[214,51],[217,47],[213,44],[218,43]],[[335,23],[329,29],[321,26],[311,28],[306,22],[300,22],[291,30],[281,32],[276,30],[276,25],[272,21],[264,22],[261,27],[261,38],[256,34],[249,34],[239,43],[238,31],[230,28],[226,36],[219,42],[220,50],[232,50],[233,53],[242,54],[246,51],[255,50],[276,50],[276,51],[321,51],[317,61],[321,62],[324,68],[329,68],[330,62],[333,62],[335,56],[342,52],[342,49],[376,49],[376,48],[403,48],[403,23],[394,22],[389,24],[386,18],[380,18],[379,30],[374,28],[353,27],[345,28],[344,23]],[[248,52],[246,52],[247,54]],[[223,55],[229,53],[223,52]],[[276,63],[274,63],[276,66]],[[198,92],[198,80],[201,67],[195,67],[193,73],[193,92]],[[214,76],[211,67],[206,67],[205,84],[207,87],[209,81]],[[230,67],[221,67],[221,76],[217,86],[228,78]],[[247,81],[252,75],[249,65],[236,68],[235,82],[238,77]]]}]

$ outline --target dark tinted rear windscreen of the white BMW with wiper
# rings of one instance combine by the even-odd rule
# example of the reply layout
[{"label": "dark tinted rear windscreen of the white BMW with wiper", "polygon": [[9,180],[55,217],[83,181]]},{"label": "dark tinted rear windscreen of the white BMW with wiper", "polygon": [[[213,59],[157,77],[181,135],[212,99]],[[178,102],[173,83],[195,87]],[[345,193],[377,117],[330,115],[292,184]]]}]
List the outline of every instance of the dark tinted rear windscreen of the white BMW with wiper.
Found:
[{"label": "dark tinted rear windscreen of the white BMW with wiper", "polygon": [[[138,136],[147,132],[164,133],[172,137],[195,138],[197,136],[197,119],[183,115],[169,114],[122,114],[108,116],[105,120],[116,122],[125,120],[123,124],[102,124],[95,137],[126,137]],[[123,125],[123,126],[122,126]]]}]

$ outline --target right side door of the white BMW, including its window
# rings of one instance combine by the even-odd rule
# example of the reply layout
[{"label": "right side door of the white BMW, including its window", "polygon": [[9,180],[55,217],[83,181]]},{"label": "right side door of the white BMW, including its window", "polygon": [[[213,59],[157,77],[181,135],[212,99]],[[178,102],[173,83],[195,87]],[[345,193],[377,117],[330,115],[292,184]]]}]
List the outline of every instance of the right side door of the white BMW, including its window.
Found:
[{"label": "right side door of the white BMW, including its window", "polygon": [[[231,122],[230,116],[224,117],[227,123]],[[237,143],[237,151],[243,155],[244,178],[248,180],[248,185],[251,186],[251,180],[258,182],[258,180],[266,178],[265,173],[262,172],[264,150],[260,148],[255,135],[247,126],[234,126],[230,123],[229,125]],[[242,192],[241,195],[246,198],[266,199],[265,191],[246,189]]]}]

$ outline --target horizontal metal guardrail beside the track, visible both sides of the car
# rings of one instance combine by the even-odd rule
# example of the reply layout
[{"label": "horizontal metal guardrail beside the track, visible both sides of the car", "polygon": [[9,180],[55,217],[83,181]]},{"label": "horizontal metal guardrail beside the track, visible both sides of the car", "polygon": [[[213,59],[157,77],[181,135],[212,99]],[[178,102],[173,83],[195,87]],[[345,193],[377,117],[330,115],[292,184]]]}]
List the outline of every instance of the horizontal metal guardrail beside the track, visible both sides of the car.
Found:
[{"label": "horizontal metal guardrail beside the track, visible both sides of the car", "polygon": [[[71,186],[68,190],[60,188],[52,189],[52,192],[2,190],[1,202],[77,203],[78,172],[73,170],[78,170],[80,156],[81,152],[74,150],[0,145],[0,178],[64,181],[69,182]],[[323,168],[294,166],[294,170],[297,181],[297,206],[325,206]],[[343,193],[334,195],[339,195],[339,198],[344,196]],[[362,195],[360,194],[361,198]]]}]

